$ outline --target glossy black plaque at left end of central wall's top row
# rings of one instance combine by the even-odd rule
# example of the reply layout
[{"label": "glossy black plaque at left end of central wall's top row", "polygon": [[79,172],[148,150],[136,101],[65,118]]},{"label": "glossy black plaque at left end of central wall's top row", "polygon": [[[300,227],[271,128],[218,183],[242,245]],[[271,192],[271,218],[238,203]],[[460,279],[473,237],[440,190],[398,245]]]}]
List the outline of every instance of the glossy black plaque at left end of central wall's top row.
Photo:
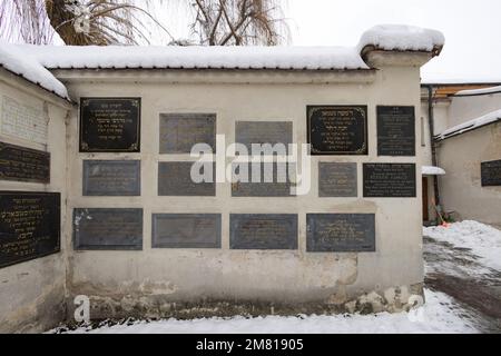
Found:
[{"label": "glossy black plaque at left end of central wall's top row", "polygon": [[139,152],[140,98],[81,98],[80,152]]}]

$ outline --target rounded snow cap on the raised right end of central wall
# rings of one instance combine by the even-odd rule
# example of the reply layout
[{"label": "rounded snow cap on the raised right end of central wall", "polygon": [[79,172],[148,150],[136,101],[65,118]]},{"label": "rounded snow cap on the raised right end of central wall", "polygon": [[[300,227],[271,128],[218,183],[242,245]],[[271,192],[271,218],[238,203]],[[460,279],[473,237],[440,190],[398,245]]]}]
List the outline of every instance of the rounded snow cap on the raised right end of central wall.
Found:
[{"label": "rounded snow cap on the raised right end of central wall", "polygon": [[405,24],[380,24],[365,31],[358,42],[358,51],[366,48],[385,51],[423,51],[440,55],[445,38],[436,30]]}]

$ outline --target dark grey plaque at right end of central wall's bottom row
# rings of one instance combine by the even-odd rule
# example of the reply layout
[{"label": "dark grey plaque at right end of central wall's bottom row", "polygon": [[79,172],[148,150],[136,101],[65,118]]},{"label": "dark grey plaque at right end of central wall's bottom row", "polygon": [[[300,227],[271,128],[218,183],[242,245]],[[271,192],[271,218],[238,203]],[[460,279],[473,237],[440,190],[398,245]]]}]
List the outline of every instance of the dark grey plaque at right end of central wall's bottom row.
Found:
[{"label": "dark grey plaque at right end of central wall's bottom row", "polygon": [[307,214],[310,253],[375,251],[374,214]]}]

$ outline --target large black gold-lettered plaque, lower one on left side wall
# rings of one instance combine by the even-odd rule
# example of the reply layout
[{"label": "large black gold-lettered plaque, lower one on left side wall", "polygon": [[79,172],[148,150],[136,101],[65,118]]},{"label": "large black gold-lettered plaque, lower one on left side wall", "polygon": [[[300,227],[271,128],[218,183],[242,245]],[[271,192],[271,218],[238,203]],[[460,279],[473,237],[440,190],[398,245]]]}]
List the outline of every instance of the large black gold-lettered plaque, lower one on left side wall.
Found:
[{"label": "large black gold-lettered plaque, lower one on left side wall", "polygon": [[60,250],[59,192],[0,191],[0,268]]}]

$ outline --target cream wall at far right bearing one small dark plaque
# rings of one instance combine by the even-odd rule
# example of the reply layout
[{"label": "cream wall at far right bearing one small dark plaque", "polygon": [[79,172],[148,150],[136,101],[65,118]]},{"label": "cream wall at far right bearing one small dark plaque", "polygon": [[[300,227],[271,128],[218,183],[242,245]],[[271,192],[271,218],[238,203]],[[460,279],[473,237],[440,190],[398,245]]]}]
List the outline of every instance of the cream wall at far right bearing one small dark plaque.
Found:
[{"label": "cream wall at far right bearing one small dark plaque", "polygon": [[439,178],[444,207],[461,219],[501,226],[501,122],[440,141],[438,155],[448,172]]}]

